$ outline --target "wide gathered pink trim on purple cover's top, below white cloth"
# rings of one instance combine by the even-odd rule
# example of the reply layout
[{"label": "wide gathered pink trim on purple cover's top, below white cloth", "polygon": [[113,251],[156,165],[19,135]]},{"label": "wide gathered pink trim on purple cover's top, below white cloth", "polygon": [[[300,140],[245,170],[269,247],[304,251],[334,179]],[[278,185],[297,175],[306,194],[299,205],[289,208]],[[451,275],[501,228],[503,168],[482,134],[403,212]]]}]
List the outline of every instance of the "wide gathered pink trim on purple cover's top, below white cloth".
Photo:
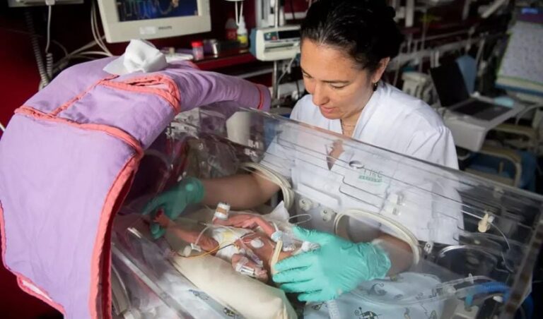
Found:
[{"label": "wide gathered pink trim on purple cover's top, below white cloth", "polygon": [[[180,103],[181,96],[179,88],[175,82],[163,75],[143,76],[138,78],[129,78],[128,80],[117,81],[103,81],[101,85],[109,86],[119,90],[127,90],[140,93],[151,93],[162,97],[170,106],[173,107],[175,114],[181,112]],[[166,90],[159,88],[151,88],[151,85],[165,85]]]}]

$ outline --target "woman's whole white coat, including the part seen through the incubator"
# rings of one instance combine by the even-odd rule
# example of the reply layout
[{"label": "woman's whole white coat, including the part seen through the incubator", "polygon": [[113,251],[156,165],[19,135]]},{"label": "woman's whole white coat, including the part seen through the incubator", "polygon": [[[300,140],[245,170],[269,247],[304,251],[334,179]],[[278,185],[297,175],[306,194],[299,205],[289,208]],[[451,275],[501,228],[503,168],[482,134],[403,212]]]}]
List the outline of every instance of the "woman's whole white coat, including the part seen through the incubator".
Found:
[{"label": "woman's whole white coat, including the part seen through the incubator", "polygon": [[[322,116],[311,98],[305,96],[296,104],[291,119],[341,134],[339,119]],[[302,226],[333,232],[337,230],[337,215],[356,208],[395,219],[419,240],[455,243],[457,230],[463,225],[460,207],[436,205],[443,196],[433,195],[445,194],[458,200],[455,186],[446,185],[446,178],[440,183],[436,176],[421,174],[415,160],[378,149],[457,169],[452,135],[428,104],[381,84],[364,107],[352,136],[378,148],[359,143],[349,147],[346,141],[346,150],[329,168],[326,155],[337,138],[293,126],[282,128],[264,157],[264,164],[291,178],[297,212],[313,217]],[[349,167],[353,162],[358,163],[358,169]],[[438,167],[430,169],[443,174]],[[300,200],[305,200],[302,209]],[[332,215],[328,215],[329,210]],[[353,241],[369,240],[379,228],[390,231],[378,223],[352,218],[345,227]]]}]

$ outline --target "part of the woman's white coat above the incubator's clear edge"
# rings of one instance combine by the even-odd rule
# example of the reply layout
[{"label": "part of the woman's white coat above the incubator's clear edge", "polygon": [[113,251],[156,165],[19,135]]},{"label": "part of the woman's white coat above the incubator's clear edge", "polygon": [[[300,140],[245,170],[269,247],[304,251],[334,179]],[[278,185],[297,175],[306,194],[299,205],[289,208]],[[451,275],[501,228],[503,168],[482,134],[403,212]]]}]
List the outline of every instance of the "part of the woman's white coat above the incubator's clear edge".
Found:
[{"label": "part of the woman's white coat above the incubator's clear edge", "polygon": [[[306,95],[291,119],[341,134],[339,119],[325,118]],[[458,168],[455,143],[440,116],[425,102],[388,84],[373,92],[358,118],[355,140],[409,155],[426,162]]]}]

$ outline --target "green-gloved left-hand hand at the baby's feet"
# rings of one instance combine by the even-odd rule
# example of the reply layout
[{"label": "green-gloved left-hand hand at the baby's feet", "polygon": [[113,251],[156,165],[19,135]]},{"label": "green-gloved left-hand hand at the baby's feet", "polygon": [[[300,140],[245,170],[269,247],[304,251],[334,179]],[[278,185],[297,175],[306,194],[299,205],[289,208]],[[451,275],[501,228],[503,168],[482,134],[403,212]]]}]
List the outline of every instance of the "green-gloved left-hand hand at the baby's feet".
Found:
[{"label": "green-gloved left-hand hand at the baby's feet", "polygon": [[[194,177],[187,177],[168,191],[160,193],[150,200],[144,207],[144,214],[151,213],[151,220],[153,220],[157,210],[162,210],[166,216],[175,220],[187,205],[200,203],[203,199],[204,186],[202,182]],[[151,235],[154,239],[160,238],[164,233],[165,229],[156,222],[151,222]]]}]

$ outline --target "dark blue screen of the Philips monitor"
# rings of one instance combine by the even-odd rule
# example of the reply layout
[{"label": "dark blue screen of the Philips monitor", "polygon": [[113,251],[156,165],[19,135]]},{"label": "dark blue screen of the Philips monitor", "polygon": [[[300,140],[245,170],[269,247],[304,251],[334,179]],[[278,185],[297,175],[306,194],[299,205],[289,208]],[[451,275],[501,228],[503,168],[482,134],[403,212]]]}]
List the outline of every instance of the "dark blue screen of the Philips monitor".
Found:
[{"label": "dark blue screen of the Philips monitor", "polygon": [[117,0],[119,21],[198,16],[197,0]]}]

